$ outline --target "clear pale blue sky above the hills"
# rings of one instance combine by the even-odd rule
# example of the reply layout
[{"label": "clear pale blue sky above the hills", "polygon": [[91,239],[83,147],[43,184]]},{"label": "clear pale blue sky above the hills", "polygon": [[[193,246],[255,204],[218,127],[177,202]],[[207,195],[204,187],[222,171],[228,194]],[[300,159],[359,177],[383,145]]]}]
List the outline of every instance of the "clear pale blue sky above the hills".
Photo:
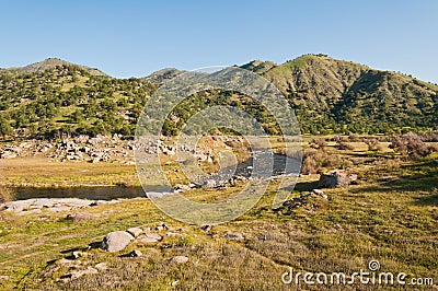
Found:
[{"label": "clear pale blue sky above the hills", "polygon": [[324,53],[438,82],[438,1],[0,2],[0,67],[48,57],[142,77]]}]

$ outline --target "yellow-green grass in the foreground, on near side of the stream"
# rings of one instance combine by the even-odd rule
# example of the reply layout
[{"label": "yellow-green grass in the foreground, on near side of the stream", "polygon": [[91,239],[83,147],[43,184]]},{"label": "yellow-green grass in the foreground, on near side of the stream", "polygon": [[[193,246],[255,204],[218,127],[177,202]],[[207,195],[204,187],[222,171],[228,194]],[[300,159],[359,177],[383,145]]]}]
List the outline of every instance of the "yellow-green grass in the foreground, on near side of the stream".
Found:
[{"label": "yellow-green grass in the foreground, on near side of the stream", "polygon": [[[404,271],[408,276],[434,277],[438,271],[437,165],[434,158],[416,163],[376,165],[356,170],[358,185],[325,190],[330,200],[312,198],[311,206],[290,213],[273,211],[270,201],[276,182],[266,196],[246,214],[214,226],[205,233],[199,226],[177,222],[158,210],[146,198],[122,200],[112,206],[81,209],[93,219],[73,223],[66,213],[15,217],[1,212],[0,276],[4,290],[72,289],[97,290],[287,290],[280,281],[288,266],[295,271],[354,272],[378,259],[384,271]],[[312,188],[316,176],[306,176],[293,195]],[[232,187],[227,189],[232,193]],[[235,189],[239,189],[237,187]],[[206,201],[222,196],[219,190],[204,194]],[[110,231],[164,222],[184,238],[166,236],[157,245],[132,243],[119,254],[91,248],[74,263],[84,269],[106,263],[107,270],[69,282],[59,281],[70,267],[59,259],[73,249],[96,245]],[[182,229],[182,231],[180,231]],[[223,238],[239,232],[245,242]],[[261,238],[263,237],[263,238]],[[140,249],[139,258],[118,255]],[[169,264],[175,255],[186,255],[184,265]],[[437,280],[438,278],[436,278]],[[172,283],[174,286],[172,287]],[[319,290],[321,286],[301,286]],[[357,290],[372,286],[355,284]]]}]

